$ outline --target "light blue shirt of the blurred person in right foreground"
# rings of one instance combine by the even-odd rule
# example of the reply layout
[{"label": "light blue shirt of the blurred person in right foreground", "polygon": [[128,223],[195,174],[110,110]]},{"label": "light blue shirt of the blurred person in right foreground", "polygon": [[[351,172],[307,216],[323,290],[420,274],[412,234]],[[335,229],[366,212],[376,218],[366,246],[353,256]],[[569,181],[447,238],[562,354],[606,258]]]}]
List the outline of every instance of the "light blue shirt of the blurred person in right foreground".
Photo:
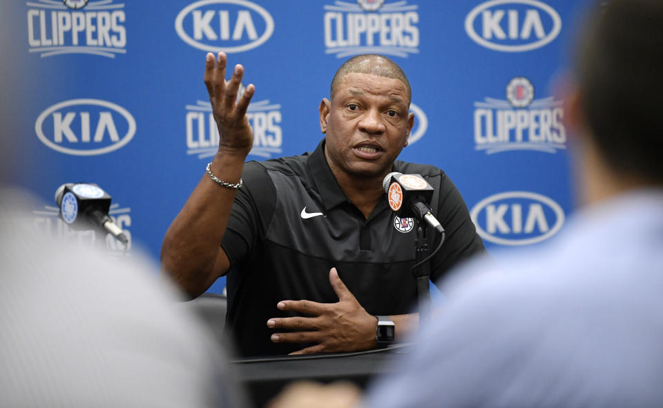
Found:
[{"label": "light blue shirt of the blurred person in right foreground", "polygon": [[663,406],[662,190],[578,212],[548,245],[447,286],[366,407]]}]

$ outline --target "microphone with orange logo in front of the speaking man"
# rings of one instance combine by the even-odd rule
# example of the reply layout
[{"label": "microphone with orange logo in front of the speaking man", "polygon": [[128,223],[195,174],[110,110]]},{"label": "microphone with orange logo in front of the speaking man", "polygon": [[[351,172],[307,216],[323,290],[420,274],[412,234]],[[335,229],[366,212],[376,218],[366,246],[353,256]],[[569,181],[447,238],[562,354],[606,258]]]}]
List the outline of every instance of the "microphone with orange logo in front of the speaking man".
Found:
[{"label": "microphone with orange logo in front of the speaking man", "polygon": [[382,187],[387,193],[389,206],[398,216],[414,216],[444,234],[444,228],[428,207],[433,196],[433,187],[422,176],[391,172],[385,176]]}]

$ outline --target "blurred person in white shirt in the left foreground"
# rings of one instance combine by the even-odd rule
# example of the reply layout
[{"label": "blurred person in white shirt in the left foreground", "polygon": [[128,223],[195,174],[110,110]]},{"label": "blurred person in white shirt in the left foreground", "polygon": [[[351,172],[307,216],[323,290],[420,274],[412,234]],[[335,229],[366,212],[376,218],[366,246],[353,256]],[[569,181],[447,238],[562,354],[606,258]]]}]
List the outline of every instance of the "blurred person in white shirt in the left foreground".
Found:
[{"label": "blurred person in white shirt in the left foreground", "polygon": [[13,16],[19,8],[24,13],[25,6],[4,6],[0,407],[241,405],[231,398],[220,351],[195,316],[175,303],[173,289],[151,273],[151,263],[137,254],[113,258],[73,247],[33,228],[29,210],[38,205],[10,185],[39,167],[32,152],[17,145],[30,136],[30,128],[23,126],[30,123],[24,107],[34,97],[21,81],[35,72],[21,66],[15,36],[8,34],[19,32]]}]

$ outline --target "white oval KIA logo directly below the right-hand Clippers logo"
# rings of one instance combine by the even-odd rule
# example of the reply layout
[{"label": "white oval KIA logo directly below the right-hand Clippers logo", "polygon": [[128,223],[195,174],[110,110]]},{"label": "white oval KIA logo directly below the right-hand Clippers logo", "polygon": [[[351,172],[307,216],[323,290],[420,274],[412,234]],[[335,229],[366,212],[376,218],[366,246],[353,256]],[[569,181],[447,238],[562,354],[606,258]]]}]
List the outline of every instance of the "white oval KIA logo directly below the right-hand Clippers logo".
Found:
[{"label": "white oval KIA logo directly below the right-hand Clippers logo", "polygon": [[533,192],[503,192],[474,205],[470,216],[486,241],[530,245],[555,235],[564,225],[564,210],[552,198]]}]

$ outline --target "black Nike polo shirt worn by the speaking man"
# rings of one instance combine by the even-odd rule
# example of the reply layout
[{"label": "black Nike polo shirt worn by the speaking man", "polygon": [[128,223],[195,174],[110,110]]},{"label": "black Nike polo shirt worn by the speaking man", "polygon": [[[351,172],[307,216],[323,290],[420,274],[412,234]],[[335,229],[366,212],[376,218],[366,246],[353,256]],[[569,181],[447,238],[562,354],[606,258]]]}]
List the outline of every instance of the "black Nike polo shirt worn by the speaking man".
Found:
[{"label": "black Nike polo shirt worn by the speaking man", "polygon": [[[271,343],[274,330],[267,320],[294,316],[276,308],[280,300],[338,302],[329,284],[332,267],[369,314],[416,309],[410,271],[416,232],[407,231],[408,225],[396,227],[386,194],[366,219],[340,189],[324,146],[323,139],[313,153],[244,165],[244,186],[222,242],[231,263],[226,324],[242,356],[305,347]],[[445,228],[446,240],[432,259],[432,281],[483,252],[463,198],[442,170],[396,161],[393,171],[421,174],[435,189],[432,213]]]}]

